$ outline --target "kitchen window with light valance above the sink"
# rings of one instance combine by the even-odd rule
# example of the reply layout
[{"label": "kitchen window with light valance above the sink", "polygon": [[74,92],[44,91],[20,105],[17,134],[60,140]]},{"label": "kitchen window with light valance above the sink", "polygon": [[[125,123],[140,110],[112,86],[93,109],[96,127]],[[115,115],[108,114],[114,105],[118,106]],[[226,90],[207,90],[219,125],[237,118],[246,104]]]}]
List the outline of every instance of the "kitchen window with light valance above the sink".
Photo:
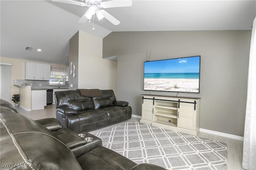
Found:
[{"label": "kitchen window with light valance above the sink", "polygon": [[51,68],[50,75],[50,86],[64,86],[66,78],[66,69],[65,68]]}]

